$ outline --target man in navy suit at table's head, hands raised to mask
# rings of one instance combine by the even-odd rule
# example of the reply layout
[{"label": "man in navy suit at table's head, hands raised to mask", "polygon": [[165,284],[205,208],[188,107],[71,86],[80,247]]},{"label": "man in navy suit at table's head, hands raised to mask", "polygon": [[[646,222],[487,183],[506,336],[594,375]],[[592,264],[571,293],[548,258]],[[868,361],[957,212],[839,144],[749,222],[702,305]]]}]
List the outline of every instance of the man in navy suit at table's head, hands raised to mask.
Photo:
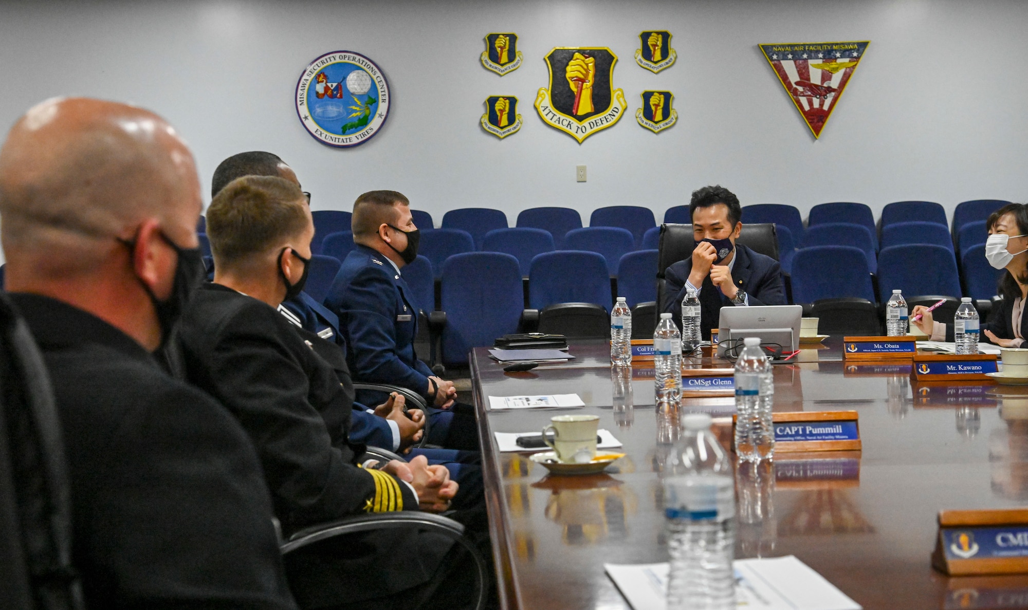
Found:
[{"label": "man in navy suit at table's head, hands raised to mask", "polygon": [[786,304],[778,262],[736,243],[742,207],[732,191],[722,186],[694,191],[689,215],[696,247],[692,257],[664,272],[667,291],[661,311],[681,323],[687,288],[699,291],[700,330],[709,340],[710,330],[719,328],[722,307]]}]

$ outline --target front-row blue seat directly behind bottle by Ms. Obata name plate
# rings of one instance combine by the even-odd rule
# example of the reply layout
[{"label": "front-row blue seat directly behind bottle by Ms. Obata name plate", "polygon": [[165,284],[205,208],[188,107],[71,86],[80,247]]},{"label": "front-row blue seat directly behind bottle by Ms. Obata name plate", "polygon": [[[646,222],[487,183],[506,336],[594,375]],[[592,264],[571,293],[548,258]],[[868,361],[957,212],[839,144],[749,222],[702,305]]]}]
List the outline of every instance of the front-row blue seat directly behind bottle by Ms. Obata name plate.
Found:
[{"label": "front-row blue seat directly behind bottle by Ms. Obata name plate", "polygon": [[903,291],[907,298],[924,295],[959,297],[960,276],[957,275],[957,260],[953,251],[923,243],[882,249],[878,253],[880,300],[887,301],[894,290]]}]

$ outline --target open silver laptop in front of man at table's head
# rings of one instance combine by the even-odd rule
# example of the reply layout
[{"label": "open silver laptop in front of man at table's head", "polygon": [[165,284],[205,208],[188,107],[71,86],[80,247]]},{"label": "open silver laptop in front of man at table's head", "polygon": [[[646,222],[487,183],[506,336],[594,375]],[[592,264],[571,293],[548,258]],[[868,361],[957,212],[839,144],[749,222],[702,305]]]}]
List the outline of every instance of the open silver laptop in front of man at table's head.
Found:
[{"label": "open silver laptop in front of man at table's head", "polygon": [[777,343],[782,351],[800,349],[800,305],[759,305],[754,307],[722,307],[718,331],[718,355],[742,351],[741,340],[760,337],[761,343]]}]

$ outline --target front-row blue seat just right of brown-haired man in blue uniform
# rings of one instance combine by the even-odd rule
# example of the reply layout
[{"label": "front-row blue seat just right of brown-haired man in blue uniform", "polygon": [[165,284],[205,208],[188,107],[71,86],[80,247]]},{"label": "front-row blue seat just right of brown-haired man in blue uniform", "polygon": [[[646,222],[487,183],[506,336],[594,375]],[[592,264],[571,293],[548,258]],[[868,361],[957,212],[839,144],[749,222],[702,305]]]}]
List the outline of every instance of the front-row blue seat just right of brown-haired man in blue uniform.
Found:
[{"label": "front-row blue seat just right of brown-haired man in blue uniform", "polygon": [[[540,255],[548,256],[548,255]],[[443,263],[440,305],[446,312],[442,358],[466,365],[472,347],[492,345],[518,331],[524,291],[517,259],[498,252],[475,252]]]}]

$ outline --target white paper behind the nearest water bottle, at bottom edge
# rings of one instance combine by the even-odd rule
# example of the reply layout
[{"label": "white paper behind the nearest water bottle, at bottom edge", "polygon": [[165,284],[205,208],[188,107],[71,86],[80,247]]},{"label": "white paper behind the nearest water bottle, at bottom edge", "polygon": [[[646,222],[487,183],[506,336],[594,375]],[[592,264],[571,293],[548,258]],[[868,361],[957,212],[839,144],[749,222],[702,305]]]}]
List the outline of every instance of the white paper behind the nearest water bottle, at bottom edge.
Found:
[{"label": "white paper behind the nearest water bottle, at bottom edge", "polygon": [[[793,556],[732,562],[736,606],[746,610],[861,610]],[[667,564],[603,564],[634,610],[665,610]]]}]

